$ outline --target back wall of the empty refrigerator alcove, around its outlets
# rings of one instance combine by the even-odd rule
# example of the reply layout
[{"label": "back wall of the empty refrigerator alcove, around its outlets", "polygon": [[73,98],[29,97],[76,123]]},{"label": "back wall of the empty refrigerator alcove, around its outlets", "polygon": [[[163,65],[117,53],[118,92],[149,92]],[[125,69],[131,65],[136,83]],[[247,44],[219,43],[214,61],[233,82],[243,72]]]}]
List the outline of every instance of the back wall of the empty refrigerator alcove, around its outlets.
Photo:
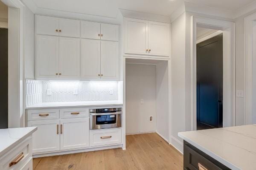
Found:
[{"label": "back wall of the empty refrigerator alcove, around its outlets", "polygon": [[126,64],[125,73],[126,135],[156,131],[156,66]]}]

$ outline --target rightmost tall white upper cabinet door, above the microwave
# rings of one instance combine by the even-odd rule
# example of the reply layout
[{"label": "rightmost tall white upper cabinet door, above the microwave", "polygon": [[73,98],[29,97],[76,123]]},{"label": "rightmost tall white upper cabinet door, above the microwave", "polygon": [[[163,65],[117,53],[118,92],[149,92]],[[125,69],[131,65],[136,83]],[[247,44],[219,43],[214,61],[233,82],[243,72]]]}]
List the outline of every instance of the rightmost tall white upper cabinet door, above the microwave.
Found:
[{"label": "rightmost tall white upper cabinet door, above the microwave", "polygon": [[101,79],[118,79],[118,42],[101,41]]}]

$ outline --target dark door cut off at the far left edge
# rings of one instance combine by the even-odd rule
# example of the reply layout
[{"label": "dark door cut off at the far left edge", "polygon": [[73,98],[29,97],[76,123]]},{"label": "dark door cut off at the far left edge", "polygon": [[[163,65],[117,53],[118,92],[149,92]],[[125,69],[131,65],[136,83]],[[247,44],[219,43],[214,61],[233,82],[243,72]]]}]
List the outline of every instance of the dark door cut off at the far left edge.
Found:
[{"label": "dark door cut off at the far left edge", "polygon": [[0,28],[0,129],[8,128],[8,29]]}]

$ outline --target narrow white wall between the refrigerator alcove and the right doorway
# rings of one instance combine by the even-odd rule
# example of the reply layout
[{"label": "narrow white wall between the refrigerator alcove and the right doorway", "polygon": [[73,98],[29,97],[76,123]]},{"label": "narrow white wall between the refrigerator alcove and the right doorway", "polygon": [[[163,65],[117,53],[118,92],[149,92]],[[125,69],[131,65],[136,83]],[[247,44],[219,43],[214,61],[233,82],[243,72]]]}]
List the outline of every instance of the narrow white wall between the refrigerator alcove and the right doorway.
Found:
[{"label": "narrow white wall between the refrigerator alcove and the right doorway", "polygon": [[169,143],[183,150],[183,140],[177,135],[185,131],[185,28],[186,14],[183,13],[171,24],[172,37],[172,109],[170,117]]}]

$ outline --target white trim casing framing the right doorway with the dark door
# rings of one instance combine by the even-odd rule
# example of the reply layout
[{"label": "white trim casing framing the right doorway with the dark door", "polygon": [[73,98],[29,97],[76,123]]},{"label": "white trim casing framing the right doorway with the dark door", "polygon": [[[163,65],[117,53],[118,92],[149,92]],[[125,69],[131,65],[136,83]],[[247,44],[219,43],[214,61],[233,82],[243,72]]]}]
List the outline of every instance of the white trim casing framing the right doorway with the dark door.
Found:
[{"label": "white trim casing framing the right doorway with the dark door", "polygon": [[223,31],[223,127],[235,125],[235,23],[191,17],[191,129],[196,130],[196,27]]}]

